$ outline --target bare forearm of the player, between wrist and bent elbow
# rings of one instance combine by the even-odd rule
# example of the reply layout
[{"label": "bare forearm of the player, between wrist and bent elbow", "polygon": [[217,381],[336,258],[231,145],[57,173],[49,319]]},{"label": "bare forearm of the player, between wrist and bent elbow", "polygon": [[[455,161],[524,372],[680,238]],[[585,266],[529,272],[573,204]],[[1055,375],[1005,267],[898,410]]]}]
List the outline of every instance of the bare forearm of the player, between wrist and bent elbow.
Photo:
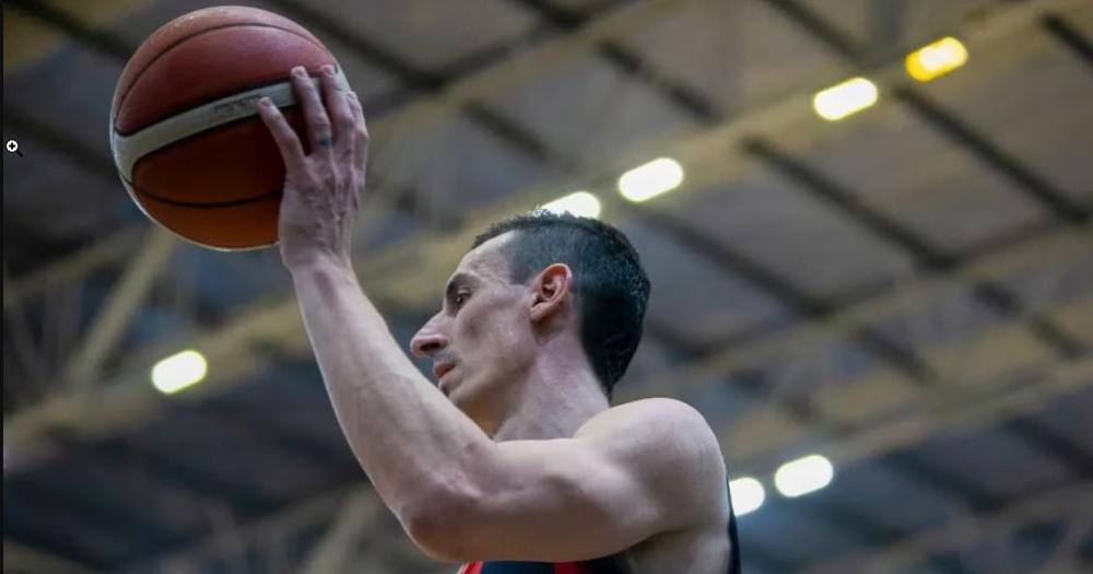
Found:
[{"label": "bare forearm of the player, between wrist and bent elbow", "polygon": [[312,266],[293,283],[342,432],[397,513],[491,445],[406,356],[352,269]]}]

